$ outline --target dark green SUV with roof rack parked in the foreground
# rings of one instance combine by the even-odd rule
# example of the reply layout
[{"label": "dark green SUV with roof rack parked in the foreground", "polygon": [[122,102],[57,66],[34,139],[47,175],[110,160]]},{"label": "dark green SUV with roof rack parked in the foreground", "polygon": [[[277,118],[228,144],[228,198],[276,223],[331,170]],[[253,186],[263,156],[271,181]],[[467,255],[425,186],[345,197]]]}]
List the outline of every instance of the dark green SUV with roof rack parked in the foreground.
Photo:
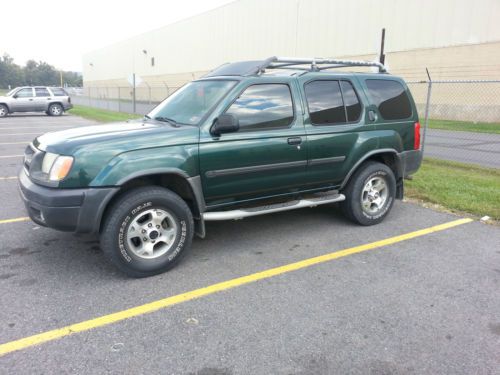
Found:
[{"label": "dark green SUV with roof rack parked in the foreground", "polygon": [[[333,71],[350,66],[379,72]],[[141,120],[37,137],[19,181],[33,221],[99,234],[144,277],[177,264],[210,220],[339,202],[379,223],[421,160],[413,99],[383,65],[272,57],[225,64]]]}]

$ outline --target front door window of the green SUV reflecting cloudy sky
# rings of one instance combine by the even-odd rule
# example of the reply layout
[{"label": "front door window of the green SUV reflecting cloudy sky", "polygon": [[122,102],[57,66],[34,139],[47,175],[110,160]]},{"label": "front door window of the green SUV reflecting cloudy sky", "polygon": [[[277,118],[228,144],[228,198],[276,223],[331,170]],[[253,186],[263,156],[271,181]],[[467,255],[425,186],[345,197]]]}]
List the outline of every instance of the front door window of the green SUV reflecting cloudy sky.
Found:
[{"label": "front door window of the green SUV reflecting cloudy sky", "polygon": [[287,127],[293,121],[290,88],[283,84],[250,86],[226,113],[239,119],[241,131]]}]

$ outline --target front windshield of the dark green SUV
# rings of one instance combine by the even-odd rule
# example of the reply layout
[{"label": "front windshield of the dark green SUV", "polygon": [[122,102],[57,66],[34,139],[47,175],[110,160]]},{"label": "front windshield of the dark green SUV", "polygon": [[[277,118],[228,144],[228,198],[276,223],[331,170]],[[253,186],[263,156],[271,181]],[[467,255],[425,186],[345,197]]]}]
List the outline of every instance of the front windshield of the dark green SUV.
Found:
[{"label": "front windshield of the dark green SUV", "polygon": [[190,82],[160,103],[148,116],[178,124],[198,125],[235,84],[236,81],[223,80]]}]

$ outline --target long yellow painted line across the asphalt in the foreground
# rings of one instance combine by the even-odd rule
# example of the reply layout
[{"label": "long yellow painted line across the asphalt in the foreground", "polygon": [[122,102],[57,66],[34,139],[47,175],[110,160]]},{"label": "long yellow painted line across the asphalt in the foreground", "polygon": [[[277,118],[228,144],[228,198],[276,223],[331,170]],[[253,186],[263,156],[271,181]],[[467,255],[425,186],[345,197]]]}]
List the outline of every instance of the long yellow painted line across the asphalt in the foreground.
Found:
[{"label": "long yellow painted line across the asphalt in the foreground", "polygon": [[265,271],[253,273],[247,276],[237,277],[235,279],[223,281],[217,284],[212,284],[204,288],[195,289],[182,294],[177,294],[172,297],[167,297],[164,299],[132,307],[126,310],[118,311],[108,315],[103,315],[80,323],[75,323],[62,328],[57,328],[50,331],[42,332],[19,340],[10,341],[0,345],[0,356],[12,353],[17,350],[26,349],[45,342],[60,339],[62,337],[69,336],[74,333],[88,331],[94,328],[99,328],[109,324],[117,323],[122,320],[138,317],[144,314],[149,314],[154,311],[158,311],[173,305],[191,301],[214,293],[222,292],[228,289],[236,288],[241,285],[250,284],[259,280],[264,280],[277,275],[282,275],[288,272],[297,271],[303,268],[314,266],[316,264],[325,263],[334,259],[343,258],[357,253],[362,253],[364,251],[374,250],[384,246],[393,245],[398,242],[408,241],[416,237],[425,236],[427,234],[453,228],[458,225],[470,223],[471,221],[473,220],[468,218],[454,220],[448,223],[435,225],[433,227],[417,230],[399,236],[386,238],[384,240],[375,241],[369,244],[355,246],[344,250],[339,250],[333,253],[320,255],[317,257],[301,260],[295,263],[286,264],[284,266],[276,268],[270,268]]}]

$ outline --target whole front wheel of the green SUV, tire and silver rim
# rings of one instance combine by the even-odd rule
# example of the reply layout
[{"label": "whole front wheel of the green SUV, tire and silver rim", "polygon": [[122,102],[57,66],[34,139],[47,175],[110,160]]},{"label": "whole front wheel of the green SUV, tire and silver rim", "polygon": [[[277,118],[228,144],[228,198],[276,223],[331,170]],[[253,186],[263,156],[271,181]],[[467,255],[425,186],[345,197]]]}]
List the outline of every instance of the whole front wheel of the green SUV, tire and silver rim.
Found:
[{"label": "whole front wheel of the green SUV, tire and silver rim", "polygon": [[191,246],[193,216],[172,191],[141,187],[120,197],[101,231],[104,254],[132,277],[147,277],[175,266]]}]

